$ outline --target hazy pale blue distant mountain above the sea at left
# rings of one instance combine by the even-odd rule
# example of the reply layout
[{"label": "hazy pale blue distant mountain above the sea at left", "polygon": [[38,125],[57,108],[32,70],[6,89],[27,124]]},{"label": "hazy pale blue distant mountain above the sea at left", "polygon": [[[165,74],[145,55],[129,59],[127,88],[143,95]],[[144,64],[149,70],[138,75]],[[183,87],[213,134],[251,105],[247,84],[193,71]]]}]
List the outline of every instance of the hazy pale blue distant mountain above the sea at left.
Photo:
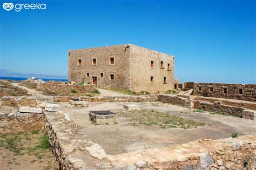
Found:
[{"label": "hazy pale blue distant mountain above the sea at left", "polygon": [[21,73],[13,73],[8,70],[0,69],[0,77],[22,77],[22,78],[47,78],[47,79],[68,79],[67,76],[53,76],[46,74],[21,74]]}]

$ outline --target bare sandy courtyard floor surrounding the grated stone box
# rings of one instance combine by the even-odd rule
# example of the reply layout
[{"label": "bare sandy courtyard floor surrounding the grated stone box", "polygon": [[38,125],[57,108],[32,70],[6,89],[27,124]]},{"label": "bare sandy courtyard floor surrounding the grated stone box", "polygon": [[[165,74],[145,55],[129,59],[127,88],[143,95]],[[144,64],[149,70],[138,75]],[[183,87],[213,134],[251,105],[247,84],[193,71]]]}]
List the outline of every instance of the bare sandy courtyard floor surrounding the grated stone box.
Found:
[{"label": "bare sandy courtyard floor surrounding the grated stone box", "polygon": [[[200,138],[220,139],[230,137],[232,132],[239,135],[255,134],[256,124],[247,120],[225,115],[198,113],[190,109],[163,103],[133,103],[141,109],[169,112],[185,119],[203,121],[206,126],[197,128],[160,128],[159,126],[130,125],[129,118],[118,114],[124,103],[91,103],[90,107],[75,107],[61,103],[60,110],[70,114],[71,119],[83,127],[85,134],[105,149],[107,154],[139,151],[145,148],[160,148],[183,144]],[[110,110],[117,113],[117,125],[93,125],[89,111]],[[150,112],[149,112],[150,114]]]}]

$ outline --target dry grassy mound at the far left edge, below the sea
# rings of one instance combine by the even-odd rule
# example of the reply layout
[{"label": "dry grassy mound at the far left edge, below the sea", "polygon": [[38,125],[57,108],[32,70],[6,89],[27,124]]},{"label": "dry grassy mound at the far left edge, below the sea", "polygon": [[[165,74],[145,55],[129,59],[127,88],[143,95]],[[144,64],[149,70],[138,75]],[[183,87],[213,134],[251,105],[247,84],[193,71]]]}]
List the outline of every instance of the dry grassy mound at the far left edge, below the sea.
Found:
[{"label": "dry grassy mound at the far left edge, below the sea", "polygon": [[31,96],[26,90],[10,85],[10,82],[0,80],[0,97],[3,96]]}]

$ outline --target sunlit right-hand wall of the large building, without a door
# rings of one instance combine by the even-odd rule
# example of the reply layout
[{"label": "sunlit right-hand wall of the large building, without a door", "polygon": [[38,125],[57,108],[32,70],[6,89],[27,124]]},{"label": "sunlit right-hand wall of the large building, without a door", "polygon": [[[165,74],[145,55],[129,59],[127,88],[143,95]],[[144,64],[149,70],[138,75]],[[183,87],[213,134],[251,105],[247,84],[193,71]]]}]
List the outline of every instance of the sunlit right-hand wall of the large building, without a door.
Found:
[{"label": "sunlit right-hand wall of the large building, without a door", "polygon": [[[156,93],[174,90],[174,56],[130,44],[131,91]],[[151,67],[151,61],[154,62]],[[163,67],[160,62],[163,61]],[[168,69],[167,64],[170,64]],[[153,81],[151,81],[153,77]],[[166,83],[164,83],[166,77]]]}]

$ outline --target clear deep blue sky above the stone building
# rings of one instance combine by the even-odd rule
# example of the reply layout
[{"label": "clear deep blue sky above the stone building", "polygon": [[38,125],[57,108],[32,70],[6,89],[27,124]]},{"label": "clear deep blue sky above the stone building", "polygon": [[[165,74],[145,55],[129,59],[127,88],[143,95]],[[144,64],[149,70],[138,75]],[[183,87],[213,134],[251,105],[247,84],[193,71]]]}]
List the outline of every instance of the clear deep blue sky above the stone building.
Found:
[{"label": "clear deep blue sky above the stone building", "polygon": [[70,49],[135,44],[174,55],[181,81],[256,83],[255,1],[4,2],[1,69],[66,76]]}]

